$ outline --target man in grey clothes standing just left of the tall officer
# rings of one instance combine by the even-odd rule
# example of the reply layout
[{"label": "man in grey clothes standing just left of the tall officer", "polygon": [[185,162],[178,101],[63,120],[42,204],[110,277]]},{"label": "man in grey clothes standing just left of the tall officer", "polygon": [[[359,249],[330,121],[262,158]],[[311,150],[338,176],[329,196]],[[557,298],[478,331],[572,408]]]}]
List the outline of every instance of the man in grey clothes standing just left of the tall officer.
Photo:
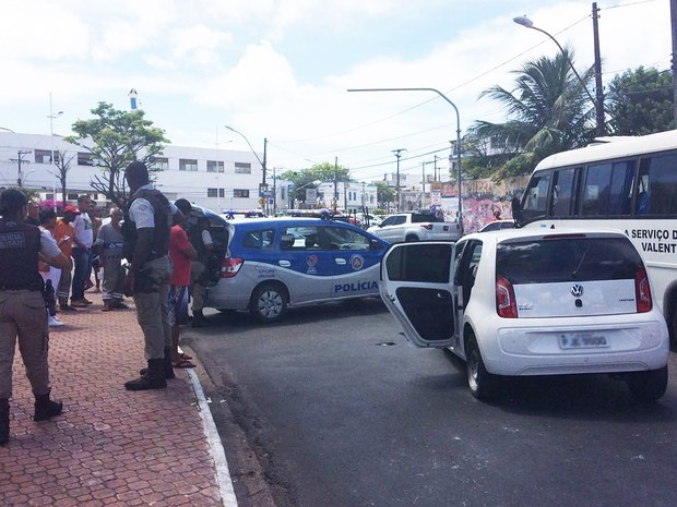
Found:
[{"label": "man in grey clothes standing just left of the tall officer", "polygon": [[110,222],[103,225],[96,234],[94,249],[98,254],[100,265],[104,267],[104,281],[102,311],[109,312],[115,309],[126,309],[122,303],[124,290],[124,268],[122,267],[122,227],[120,221],[124,214],[120,208],[110,208]]}]

